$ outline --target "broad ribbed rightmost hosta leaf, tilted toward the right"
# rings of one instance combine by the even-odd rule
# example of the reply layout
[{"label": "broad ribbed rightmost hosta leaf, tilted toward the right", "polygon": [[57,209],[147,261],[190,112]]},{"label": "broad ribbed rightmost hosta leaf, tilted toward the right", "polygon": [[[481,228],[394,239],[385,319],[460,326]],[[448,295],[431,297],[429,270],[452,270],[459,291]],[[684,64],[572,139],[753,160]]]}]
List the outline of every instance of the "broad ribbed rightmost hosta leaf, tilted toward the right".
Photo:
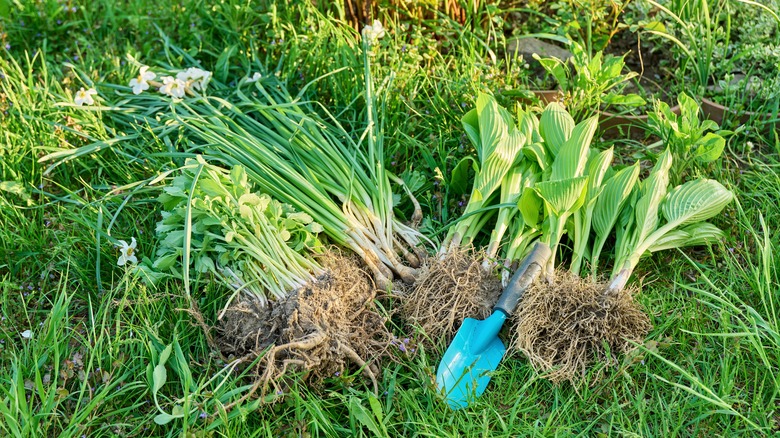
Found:
[{"label": "broad ribbed rightmost hosta leaf, tilted toward the right", "polygon": [[734,195],[721,183],[699,179],[672,189],[661,210],[669,224],[682,226],[712,218],[732,199]]}]

